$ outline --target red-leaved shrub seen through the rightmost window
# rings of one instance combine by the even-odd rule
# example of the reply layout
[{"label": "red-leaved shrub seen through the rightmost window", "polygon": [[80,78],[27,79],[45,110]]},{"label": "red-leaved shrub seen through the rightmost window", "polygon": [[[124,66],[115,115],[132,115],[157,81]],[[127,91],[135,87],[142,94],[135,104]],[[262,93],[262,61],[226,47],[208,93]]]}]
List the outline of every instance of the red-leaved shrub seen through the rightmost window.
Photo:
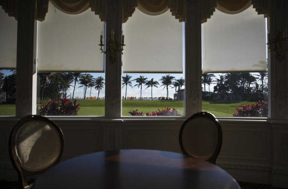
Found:
[{"label": "red-leaved shrub seen through the rightmost window", "polygon": [[236,107],[237,113],[232,113],[233,117],[268,117],[268,102],[258,101],[255,104],[245,105],[242,108]]}]

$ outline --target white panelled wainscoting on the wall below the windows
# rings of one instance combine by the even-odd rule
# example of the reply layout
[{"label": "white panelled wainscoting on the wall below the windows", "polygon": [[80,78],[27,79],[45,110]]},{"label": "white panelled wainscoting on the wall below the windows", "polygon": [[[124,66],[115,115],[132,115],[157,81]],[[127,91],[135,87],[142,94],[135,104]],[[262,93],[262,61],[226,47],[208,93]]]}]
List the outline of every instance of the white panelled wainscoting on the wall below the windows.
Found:
[{"label": "white panelled wainscoting on the wall below the windows", "polygon": [[[104,150],[155,149],[181,153],[184,119],[50,118],[65,138],[62,161]],[[223,144],[216,164],[237,181],[288,188],[288,121],[218,119]],[[8,139],[16,118],[0,118],[0,180],[17,180]],[[33,177],[31,177],[33,178]]]}]

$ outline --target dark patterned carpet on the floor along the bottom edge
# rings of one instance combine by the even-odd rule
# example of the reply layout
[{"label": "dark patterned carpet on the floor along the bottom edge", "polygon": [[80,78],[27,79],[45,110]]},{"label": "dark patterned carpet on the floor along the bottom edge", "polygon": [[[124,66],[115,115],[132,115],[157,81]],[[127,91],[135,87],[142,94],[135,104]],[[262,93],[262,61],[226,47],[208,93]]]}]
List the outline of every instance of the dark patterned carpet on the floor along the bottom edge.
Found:
[{"label": "dark patterned carpet on the floor along the bottom edge", "polygon": [[[34,180],[27,181],[28,184],[34,182]],[[257,183],[250,183],[250,182],[238,182],[242,189],[285,189],[279,187],[273,187],[272,185],[264,185],[264,184],[257,184]],[[0,181],[0,189],[18,189],[19,184],[18,182],[6,182]]]}]

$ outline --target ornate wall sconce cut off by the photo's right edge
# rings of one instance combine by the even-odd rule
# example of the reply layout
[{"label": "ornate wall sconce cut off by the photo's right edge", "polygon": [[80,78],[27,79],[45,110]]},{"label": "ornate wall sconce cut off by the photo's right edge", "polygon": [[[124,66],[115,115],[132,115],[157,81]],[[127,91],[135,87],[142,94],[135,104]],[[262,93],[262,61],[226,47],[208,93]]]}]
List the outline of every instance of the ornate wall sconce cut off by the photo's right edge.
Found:
[{"label": "ornate wall sconce cut off by the photo's right edge", "polygon": [[276,54],[276,58],[280,62],[285,58],[285,53],[286,51],[288,51],[286,31],[287,29],[275,31],[276,36],[274,39],[270,39],[270,31],[268,31],[268,49],[269,51],[274,51],[274,53]]}]

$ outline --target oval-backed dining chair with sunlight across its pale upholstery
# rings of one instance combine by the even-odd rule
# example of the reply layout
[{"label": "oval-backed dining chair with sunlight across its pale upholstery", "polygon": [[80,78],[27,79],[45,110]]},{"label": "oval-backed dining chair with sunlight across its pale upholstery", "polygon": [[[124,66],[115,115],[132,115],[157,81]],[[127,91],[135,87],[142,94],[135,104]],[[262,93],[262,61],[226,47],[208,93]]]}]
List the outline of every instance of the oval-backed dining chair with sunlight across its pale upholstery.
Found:
[{"label": "oval-backed dining chair with sunlight across its pale upholstery", "polygon": [[13,127],[9,154],[18,173],[19,188],[30,188],[27,175],[42,173],[60,161],[64,136],[60,127],[40,115],[28,115]]}]

